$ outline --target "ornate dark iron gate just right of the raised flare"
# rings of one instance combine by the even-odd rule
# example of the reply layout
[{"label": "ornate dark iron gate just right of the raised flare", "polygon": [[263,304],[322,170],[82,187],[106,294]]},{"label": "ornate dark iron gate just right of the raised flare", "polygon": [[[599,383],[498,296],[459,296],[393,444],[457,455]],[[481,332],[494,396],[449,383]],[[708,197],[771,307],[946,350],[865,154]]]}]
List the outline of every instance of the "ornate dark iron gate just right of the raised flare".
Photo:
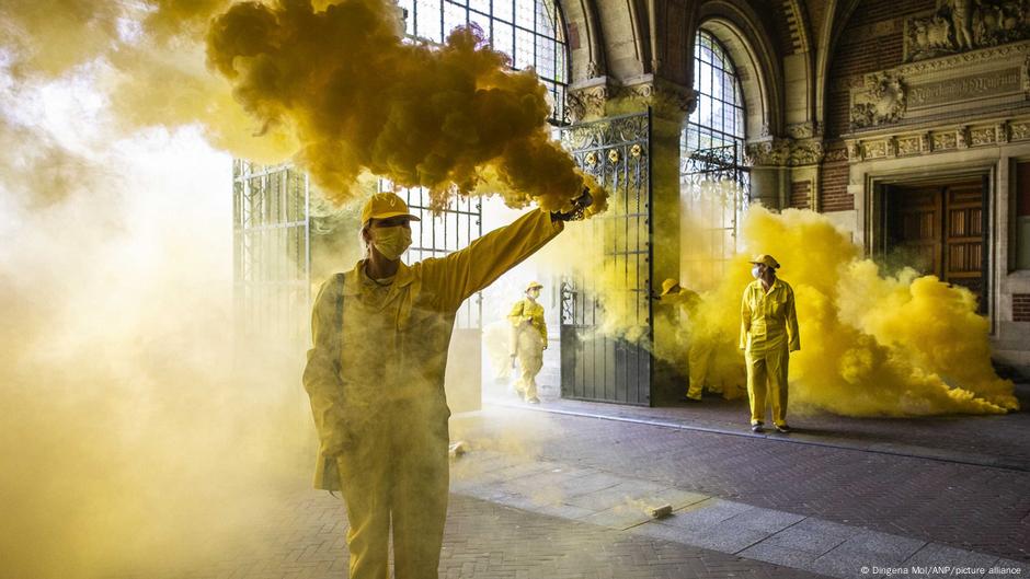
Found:
[{"label": "ornate dark iron gate just right of the raised flare", "polygon": [[561,395],[649,406],[651,113],[564,127],[561,141],[610,193],[608,211],[580,225],[603,271],[561,285]]}]

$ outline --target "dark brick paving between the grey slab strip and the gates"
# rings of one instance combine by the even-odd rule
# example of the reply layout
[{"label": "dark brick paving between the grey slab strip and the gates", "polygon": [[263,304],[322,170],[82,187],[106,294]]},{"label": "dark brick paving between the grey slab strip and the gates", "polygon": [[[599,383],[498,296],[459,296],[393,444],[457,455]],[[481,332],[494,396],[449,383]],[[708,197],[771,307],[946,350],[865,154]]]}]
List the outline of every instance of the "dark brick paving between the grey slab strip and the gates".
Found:
[{"label": "dark brick paving between the grey slab strip and the gates", "polygon": [[[633,414],[604,404],[546,401],[543,405],[543,409],[560,412],[586,407],[594,414]],[[644,408],[640,413],[653,410]],[[676,415],[683,410],[663,412]],[[1017,413],[1000,418],[1007,420],[949,420],[954,421],[952,431],[964,431],[970,439],[1020,437],[1004,445],[1005,452],[1027,445],[1028,438],[1021,433],[1030,415]],[[797,424],[806,426],[803,421]],[[867,426],[870,436],[899,443],[907,443],[911,429],[931,429],[919,420],[880,425],[879,429]],[[756,507],[1030,561],[1030,493],[1026,490],[1030,488],[1030,473],[1018,466],[949,460],[947,455],[957,451],[947,443],[947,436],[943,441],[929,441],[932,448],[915,448],[943,456],[927,458],[869,452],[862,450],[860,439],[855,443],[846,437],[839,440],[843,445],[832,437],[820,443],[786,443],[782,437],[752,437],[746,425],[734,428],[736,433],[730,436],[553,415],[528,407],[488,409],[481,417],[456,422],[459,436],[487,447],[511,445],[512,432],[519,432],[519,448],[538,460],[634,473],[642,479]],[[960,436],[952,438],[964,440]],[[989,454],[980,456],[987,463],[993,460]]]}]

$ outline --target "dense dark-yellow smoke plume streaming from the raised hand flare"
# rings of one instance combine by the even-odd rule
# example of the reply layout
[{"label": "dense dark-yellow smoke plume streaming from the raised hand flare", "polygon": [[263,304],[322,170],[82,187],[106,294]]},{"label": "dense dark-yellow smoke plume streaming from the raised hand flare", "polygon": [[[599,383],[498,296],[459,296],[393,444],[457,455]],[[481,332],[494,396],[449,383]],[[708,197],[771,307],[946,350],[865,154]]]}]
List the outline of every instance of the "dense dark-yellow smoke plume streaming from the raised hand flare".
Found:
[{"label": "dense dark-yellow smoke plume streaming from the raised hand flare", "polygon": [[401,42],[399,9],[344,0],[237,3],[207,37],[210,65],[263,126],[301,143],[298,159],[337,200],[363,171],[431,189],[437,206],[500,184],[512,207],[571,208],[596,185],[550,140],[545,88],[506,70],[476,27],[439,47]]}]

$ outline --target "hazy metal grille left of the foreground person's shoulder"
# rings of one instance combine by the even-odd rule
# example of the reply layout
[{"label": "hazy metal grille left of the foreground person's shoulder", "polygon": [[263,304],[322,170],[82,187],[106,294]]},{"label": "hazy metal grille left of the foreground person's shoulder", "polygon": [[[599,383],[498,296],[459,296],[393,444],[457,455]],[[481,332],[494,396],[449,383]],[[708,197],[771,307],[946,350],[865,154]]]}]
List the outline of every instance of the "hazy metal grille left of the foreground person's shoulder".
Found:
[{"label": "hazy metal grille left of the foreground person's shoulder", "polygon": [[308,177],[289,165],[232,163],[234,297],[249,335],[307,335],[311,273]]}]

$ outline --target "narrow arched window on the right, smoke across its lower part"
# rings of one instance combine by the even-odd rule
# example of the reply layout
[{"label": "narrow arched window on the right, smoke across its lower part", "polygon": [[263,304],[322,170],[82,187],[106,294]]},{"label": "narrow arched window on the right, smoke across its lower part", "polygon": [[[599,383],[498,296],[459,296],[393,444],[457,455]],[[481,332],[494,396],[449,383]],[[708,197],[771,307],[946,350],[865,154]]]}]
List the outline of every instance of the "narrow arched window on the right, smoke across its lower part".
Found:
[{"label": "narrow arched window on the right, smoke across its lower part", "polygon": [[680,186],[688,223],[684,230],[684,280],[711,287],[740,250],[737,224],[747,204],[744,165],[745,111],[736,67],[709,32],[694,44],[697,108],[683,131]]}]

